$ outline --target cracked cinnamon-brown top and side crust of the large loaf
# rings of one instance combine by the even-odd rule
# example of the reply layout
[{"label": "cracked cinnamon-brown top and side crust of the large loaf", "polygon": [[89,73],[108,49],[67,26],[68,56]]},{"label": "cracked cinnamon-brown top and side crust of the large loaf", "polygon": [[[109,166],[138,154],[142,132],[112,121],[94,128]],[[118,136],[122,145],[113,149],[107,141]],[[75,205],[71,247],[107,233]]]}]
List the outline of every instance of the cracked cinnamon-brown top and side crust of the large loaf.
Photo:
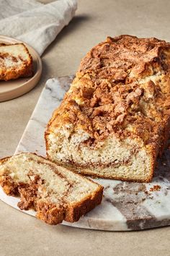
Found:
[{"label": "cracked cinnamon-brown top and side crust of the large loaf", "polygon": [[[92,48],[48,123],[48,157],[57,161],[50,153],[50,135],[58,135],[62,127],[71,127],[67,128],[70,137],[84,130],[89,137],[81,145],[94,150],[110,137],[140,140],[141,147],[152,155],[152,171],[146,181],[151,180],[156,157],[169,137],[169,67],[170,43],[156,38],[120,35]],[[70,160],[65,158],[61,163]],[[72,163],[80,166],[77,161]]]}]

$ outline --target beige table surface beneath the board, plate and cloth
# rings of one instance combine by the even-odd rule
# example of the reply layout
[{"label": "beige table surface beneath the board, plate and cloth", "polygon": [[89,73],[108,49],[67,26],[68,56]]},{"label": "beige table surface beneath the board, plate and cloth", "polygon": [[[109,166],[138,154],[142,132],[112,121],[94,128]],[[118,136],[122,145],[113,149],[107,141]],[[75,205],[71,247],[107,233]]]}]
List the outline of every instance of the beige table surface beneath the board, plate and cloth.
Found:
[{"label": "beige table surface beneath the board, plate and cloth", "polygon": [[[169,11],[169,0],[79,0],[76,17],[42,56],[39,84],[20,98],[0,103],[0,157],[14,153],[49,77],[74,74],[86,51],[107,35],[170,41]],[[0,256],[4,255],[165,256],[170,255],[170,227],[109,232],[48,226],[0,201]]]}]

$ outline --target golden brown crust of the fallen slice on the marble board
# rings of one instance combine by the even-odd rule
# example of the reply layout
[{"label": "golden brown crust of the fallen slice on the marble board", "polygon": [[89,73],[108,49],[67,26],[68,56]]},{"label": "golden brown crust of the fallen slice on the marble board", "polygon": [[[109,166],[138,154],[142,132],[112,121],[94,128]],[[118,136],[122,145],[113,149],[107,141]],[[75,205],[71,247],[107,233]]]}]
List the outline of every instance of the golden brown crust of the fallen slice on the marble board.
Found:
[{"label": "golden brown crust of the fallen slice on the marble board", "polygon": [[[1,159],[0,165],[8,161],[9,158],[10,157]],[[86,180],[83,176],[82,178]],[[88,213],[102,202],[103,187],[93,181],[91,182],[97,184],[98,188],[90,196],[84,197],[81,202],[68,204],[63,201],[62,204],[57,205],[49,200],[40,200],[37,195],[37,190],[42,182],[40,176],[35,176],[35,179],[31,180],[30,183],[16,183],[9,174],[0,174],[0,184],[6,195],[20,197],[20,202],[18,203],[19,208],[21,210],[36,210],[37,218],[51,225],[56,225],[62,221],[79,221],[81,216]]]}]

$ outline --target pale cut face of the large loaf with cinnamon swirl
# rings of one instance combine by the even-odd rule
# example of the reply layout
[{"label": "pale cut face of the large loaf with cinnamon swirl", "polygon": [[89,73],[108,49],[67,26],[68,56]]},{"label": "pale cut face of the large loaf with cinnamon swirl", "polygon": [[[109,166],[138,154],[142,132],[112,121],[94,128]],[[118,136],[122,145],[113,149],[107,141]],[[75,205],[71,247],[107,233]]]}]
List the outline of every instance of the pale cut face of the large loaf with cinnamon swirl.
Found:
[{"label": "pale cut face of the large loaf with cinnamon swirl", "polygon": [[[118,140],[117,137],[107,138],[101,142],[99,148],[93,149],[86,145],[81,145],[81,140],[76,142],[63,138],[63,142],[58,142],[55,135],[53,145],[50,147],[50,155],[53,154],[53,161],[69,163],[68,166],[77,164],[80,173],[91,176],[102,174],[104,178],[112,179],[115,175],[117,179],[135,179],[136,181],[148,180],[148,169],[152,168],[153,158],[140,144],[140,140]],[[76,137],[76,135],[75,135]],[[71,137],[72,139],[73,137]],[[76,139],[78,136],[76,137]],[[56,145],[57,148],[56,148]],[[63,145],[63,146],[62,146]],[[80,150],[77,150],[77,148]],[[110,150],[112,149],[112,150]],[[100,169],[102,168],[102,171]],[[128,176],[130,179],[128,179]]]}]

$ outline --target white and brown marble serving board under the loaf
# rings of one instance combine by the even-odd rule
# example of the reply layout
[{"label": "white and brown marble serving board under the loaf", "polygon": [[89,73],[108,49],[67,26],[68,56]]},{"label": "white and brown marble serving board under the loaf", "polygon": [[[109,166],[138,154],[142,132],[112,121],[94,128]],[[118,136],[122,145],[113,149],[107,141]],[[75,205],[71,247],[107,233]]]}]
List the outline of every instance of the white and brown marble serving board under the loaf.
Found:
[{"label": "white and brown marble serving board under the loaf", "polygon": [[[35,152],[45,156],[44,132],[48,120],[61,103],[73,76],[48,80],[15,153]],[[63,225],[84,229],[131,231],[170,225],[170,150],[158,160],[153,181],[148,184],[94,179],[104,186],[102,204],[76,223]],[[0,199],[17,208],[18,198],[7,197],[0,190]],[[19,208],[17,208],[19,210]],[[35,216],[35,211],[24,211]]]}]

